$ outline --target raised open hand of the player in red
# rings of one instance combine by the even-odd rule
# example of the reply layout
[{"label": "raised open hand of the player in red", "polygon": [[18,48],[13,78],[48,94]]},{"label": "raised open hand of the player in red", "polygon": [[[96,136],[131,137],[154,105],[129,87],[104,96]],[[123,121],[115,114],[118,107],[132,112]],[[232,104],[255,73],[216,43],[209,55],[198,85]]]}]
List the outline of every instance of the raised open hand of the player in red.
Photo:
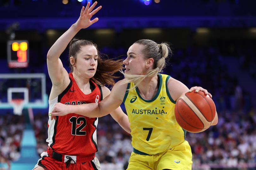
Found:
[{"label": "raised open hand of the player in red", "polygon": [[99,20],[98,18],[94,18],[93,20],[91,20],[92,16],[101,9],[101,6],[94,9],[96,4],[97,1],[94,2],[91,7],[89,7],[90,3],[88,2],[86,8],[84,8],[84,6],[82,7],[80,17],[75,23],[77,29],[87,28]]}]

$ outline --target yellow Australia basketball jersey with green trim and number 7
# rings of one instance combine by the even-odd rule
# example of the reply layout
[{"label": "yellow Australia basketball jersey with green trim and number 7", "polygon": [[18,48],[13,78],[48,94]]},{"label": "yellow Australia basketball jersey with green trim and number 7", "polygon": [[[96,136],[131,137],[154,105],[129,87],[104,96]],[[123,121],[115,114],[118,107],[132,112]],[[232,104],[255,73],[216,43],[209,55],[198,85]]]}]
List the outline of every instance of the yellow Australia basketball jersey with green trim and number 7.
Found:
[{"label": "yellow Australia basketball jersey with green trim and number 7", "polygon": [[[125,109],[131,123],[131,144],[138,154],[155,155],[184,142],[186,131],[174,117],[175,101],[167,88],[170,76],[158,74],[159,88],[155,97],[145,100],[137,88],[126,91]],[[128,83],[127,89],[134,87]]]}]

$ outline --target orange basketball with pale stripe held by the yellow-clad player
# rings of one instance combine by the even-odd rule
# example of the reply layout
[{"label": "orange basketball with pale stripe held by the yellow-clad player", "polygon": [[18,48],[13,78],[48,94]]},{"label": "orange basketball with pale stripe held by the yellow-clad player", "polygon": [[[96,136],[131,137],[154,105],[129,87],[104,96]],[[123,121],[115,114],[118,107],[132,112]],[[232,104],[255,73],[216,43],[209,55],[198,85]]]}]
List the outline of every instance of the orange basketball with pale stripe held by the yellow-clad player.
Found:
[{"label": "orange basketball with pale stripe held by the yellow-clad player", "polygon": [[216,108],[213,100],[204,92],[187,92],[177,100],[174,110],[176,121],[192,133],[208,129],[213,121]]}]

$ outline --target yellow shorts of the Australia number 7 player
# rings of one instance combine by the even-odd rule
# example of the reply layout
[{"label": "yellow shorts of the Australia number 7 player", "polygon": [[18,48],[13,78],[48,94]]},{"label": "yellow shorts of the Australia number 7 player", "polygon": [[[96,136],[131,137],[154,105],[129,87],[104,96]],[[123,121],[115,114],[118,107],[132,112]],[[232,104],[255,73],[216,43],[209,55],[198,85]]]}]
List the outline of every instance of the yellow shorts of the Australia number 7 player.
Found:
[{"label": "yellow shorts of the Australia number 7 player", "polygon": [[140,155],[131,153],[127,170],[191,170],[192,152],[188,142],[155,155]]}]

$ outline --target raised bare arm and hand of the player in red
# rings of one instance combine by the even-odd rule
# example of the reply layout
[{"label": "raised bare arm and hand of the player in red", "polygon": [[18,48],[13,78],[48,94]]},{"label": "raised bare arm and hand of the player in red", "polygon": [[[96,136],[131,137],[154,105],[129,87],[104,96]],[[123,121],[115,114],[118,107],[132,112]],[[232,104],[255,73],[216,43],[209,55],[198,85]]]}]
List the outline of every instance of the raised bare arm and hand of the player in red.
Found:
[{"label": "raised bare arm and hand of the player in red", "polygon": [[[93,10],[96,6],[95,2],[91,7],[90,3],[87,4],[86,8],[82,7],[80,17],[58,40],[52,45],[47,53],[47,68],[48,73],[52,81],[52,90],[49,99],[57,97],[70,83],[68,72],[64,69],[60,55],[63,53],[70,40],[76,35],[76,33],[82,28],[87,28],[93,23],[98,21],[98,18],[90,20],[91,17],[97,13],[101,6]],[[92,11],[93,10],[93,11]]]}]

